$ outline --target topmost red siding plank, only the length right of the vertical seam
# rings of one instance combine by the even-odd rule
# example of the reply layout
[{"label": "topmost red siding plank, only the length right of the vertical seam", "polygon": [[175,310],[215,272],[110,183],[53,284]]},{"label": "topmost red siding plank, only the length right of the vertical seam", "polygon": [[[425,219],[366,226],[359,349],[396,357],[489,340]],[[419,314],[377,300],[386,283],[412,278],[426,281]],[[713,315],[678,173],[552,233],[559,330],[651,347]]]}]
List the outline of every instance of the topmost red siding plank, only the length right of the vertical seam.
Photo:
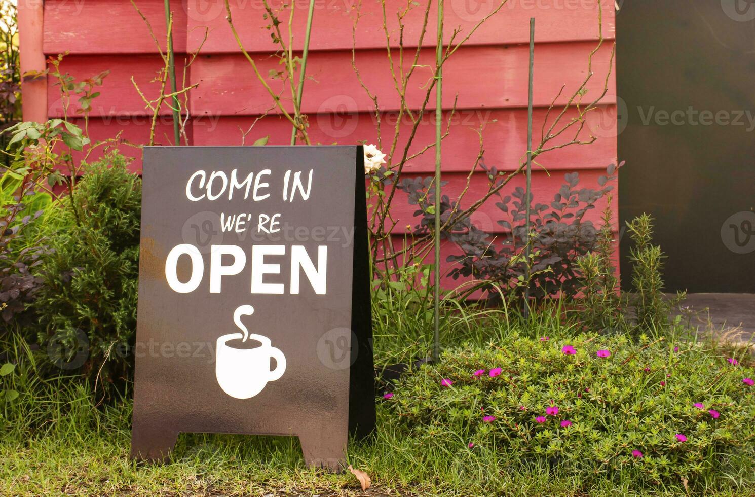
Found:
[{"label": "topmost red siding plank, only the length right of the vertical seam", "polygon": [[[282,0],[273,0],[276,9]],[[445,4],[444,38],[450,39],[458,29],[457,41],[471,32],[482,18],[495,11],[501,2],[497,0],[451,0]],[[405,0],[386,0],[387,30],[391,46],[399,46],[399,21],[396,13],[411,5]],[[207,42],[202,51],[239,51],[236,40],[226,20],[223,0],[187,2],[190,50],[196,50],[202,42],[205,29],[209,29]],[[276,46],[265,29],[266,20],[262,0],[231,0],[233,24],[248,51],[274,51]],[[387,45],[383,28],[382,2],[361,2],[360,19],[356,24],[356,45],[353,40],[353,19],[356,17],[356,0],[316,0],[313,15],[311,50],[350,50],[385,48]],[[423,24],[427,0],[412,5],[404,17],[403,43],[416,47]],[[433,2],[424,36],[424,46],[434,46],[437,36],[436,5]],[[612,39],[615,35],[614,2],[602,0],[603,36]],[[307,23],[308,0],[294,1],[294,50],[304,44]],[[529,18],[535,17],[536,42],[572,42],[598,39],[599,11],[597,0],[507,0],[504,6],[490,17],[470,37],[471,45],[508,45],[529,42]],[[288,36],[288,11],[280,17],[282,32]],[[202,29],[199,29],[202,28]]]}]

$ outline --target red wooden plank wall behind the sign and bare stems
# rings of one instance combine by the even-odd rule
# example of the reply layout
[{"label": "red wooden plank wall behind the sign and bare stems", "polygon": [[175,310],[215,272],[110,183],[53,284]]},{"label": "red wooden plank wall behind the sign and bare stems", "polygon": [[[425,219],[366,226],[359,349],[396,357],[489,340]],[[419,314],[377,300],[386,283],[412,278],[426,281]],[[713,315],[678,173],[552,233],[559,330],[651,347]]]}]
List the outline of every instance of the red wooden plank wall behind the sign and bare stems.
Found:
[{"label": "red wooden plank wall behind the sign and bare stems", "polygon": [[[418,29],[424,2],[413,8],[406,17],[405,45],[416,46]],[[478,150],[475,129],[484,123],[482,136],[485,143],[485,162],[501,170],[516,168],[526,150],[527,124],[527,70],[529,40],[529,17],[536,19],[535,34],[535,143],[544,113],[562,85],[564,96],[572,94],[587,73],[587,55],[596,46],[598,38],[598,0],[508,0],[467,42],[464,48],[451,57],[444,69],[443,107],[448,111],[458,95],[458,110],[451,125],[451,135],[442,147],[444,178],[449,181],[446,191],[453,195],[464,185],[467,171]],[[587,99],[596,97],[602,89],[609,70],[609,57],[615,34],[613,0],[602,2],[602,34],[606,38],[603,48],[593,58],[595,73],[588,85]],[[154,42],[143,20],[137,15],[128,0],[46,0],[44,11],[39,13],[39,2],[26,3],[22,9],[22,33],[24,20],[43,14],[42,46],[26,47],[28,51],[53,55],[68,51],[63,69],[82,79],[109,69],[112,73],[105,79],[101,96],[94,101],[89,130],[93,139],[112,137],[123,131],[123,137],[136,143],[146,143],[149,136],[149,119],[131,77],[148,94],[156,94],[157,87],[151,80],[162,65],[156,54]],[[274,0],[280,5],[281,0]],[[406,5],[405,0],[385,0],[388,12],[388,29],[393,32],[391,45],[397,45],[396,11]],[[32,5],[32,6],[29,6]],[[160,40],[165,39],[165,14],[162,0],[137,0],[141,11],[149,18]],[[273,44],[270,32],[263,29],[261,0],[231,0],[233,20],[241,34],[245,48],[253,54],[260,72],[267,75],[269,69],[277,69],[277,60],[270,57]],[[454,29],[461,29],[460,37],[493,8],[495,0],[446,0],[445,37]],[[199,83],[190,92],[190,144],[193,145],[238,145],[242,143],[239,128],[248,128],[254,119],[270,107],[270,97],[255,79],[251,66],[240,54],[225,19],[223,0],[172,0],[174,9],[174,46],[177,54],[178,73],[183,54],[195,50],[202,41],[205,26],[208,39],[201,54],[187,72],[186,81]],[[309,114],[310,136],[315,143],[353,144],[367,140],[376,142],[374,115],[371,100],[360,88],[351,67],[352,16],[359,3],[356,0],[317,0],[314,14],[310,60],[307,66],[308,80],[304,92],[304,113]],[[37,11],[34,11],[37,9]],[[300,49],[304,39],[304,23],[307,17],[307,0],[295,4],[294,48]],[[395,119],[399,100],[393,90],[388,70],[385,39],[382,32],[381,2],[362,0],[362,18],[356,32],[356,64],[371,91],[377,95],[384,110],[384,122]],[[420,64],[432,65],[435,49],[435,9],[430,15],[428,33],[424,39]],[[26,21],[29,24],[28,21]],[[35,24],[26,29],[39,30]],[[38,42],[29,38],[27,45]],[[24,49],[22,39],[22,50]],[[430,78],[429,68],[416,69],[414,82],[408,91],[412,108],[418,108],[421,86]],[[539,162],[541,169],[533,173],[535,202],[550,202],[563,180],[563,173],[580,171],[582,184],[596,185],[596,178],[612,162],[616,161],[616,107],[614,73],[609,77],[609,90],[603,105],[591,114],[589,125],[584,128],[582,139],[590,134],[598,137],[589,146],[570,146],[544,154]],[[179,76],[180,79],[180,76]],[[45,90],[29,85],[26,99],[29,103],[29,119],[44,119],[61,116],[62,108],[57,86],[48,82]],[[270,80],[278,88],[279,80]],[[25,90],[26,91],[26,90]],[[45,99],[44,106],[39,100]],[[429,110],[434,109],[432,97]],[[565,98],[557,100],[564,103]],[[32,110],[34,107],[35,110]],[[46,110],[45,110],[46,109]],[[162,109],[158,140],[162,144],[172,141],[171,111]],[[573,113],[571,114],[573,115]],[[384,128],[384,137],[390,135]],[[247,138],[251,144],[258,137],[270,135],[270,144],[288,144],[290,126],[275,114],[261,119]],[[418,130],[414,151],[434,139],[434,127],[430,116]],[[390,144],[384,143],[387,149]],[[125,153],[134,151],[123,150]],[[411,151],[410,151],[411,153]],[[432,150],[413,160],[407,167],[412,174],[431,174],[433,171]],[[134,168],[140,167],[139,159]],[[523,184],[514,181],[512,188]],[[474,199],[486,190],[486,178],[476,174],[467,193]],[[614,208],[618,202],[614,196]],[[402,199],[396,202],[394,217],[396,236],[401,236],[407,224],[414,225],[414,211]],[[590,213],[597,219],[598,209]],[[485,205],[475,215],[475,220],[492,233],[501,231],[495,221],[501,212],[493,202]],[[452,248],[445,248],[450,251]],[[445,258],[445,252],[443,255]]]}]

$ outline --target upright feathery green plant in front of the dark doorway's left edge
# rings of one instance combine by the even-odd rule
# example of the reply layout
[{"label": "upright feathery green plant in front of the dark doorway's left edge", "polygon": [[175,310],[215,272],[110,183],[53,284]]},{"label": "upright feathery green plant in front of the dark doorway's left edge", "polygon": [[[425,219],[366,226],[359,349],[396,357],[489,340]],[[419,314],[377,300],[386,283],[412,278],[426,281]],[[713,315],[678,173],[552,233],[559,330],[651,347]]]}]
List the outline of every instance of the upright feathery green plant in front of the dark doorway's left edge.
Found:
[{"label": "upright feathery green plant in front of the dark doorway's left edge", "polygon": [[634,247],[630,249],[633,262],[632,284],[635,295],[630,304],[635,310],[637,324],[643,328],[667,326],[670,311],[683,298],[667,299],[663,295],[663,259],[665,255],[658,245],[652,245],[653,218],[643,214],[627,222]]}]

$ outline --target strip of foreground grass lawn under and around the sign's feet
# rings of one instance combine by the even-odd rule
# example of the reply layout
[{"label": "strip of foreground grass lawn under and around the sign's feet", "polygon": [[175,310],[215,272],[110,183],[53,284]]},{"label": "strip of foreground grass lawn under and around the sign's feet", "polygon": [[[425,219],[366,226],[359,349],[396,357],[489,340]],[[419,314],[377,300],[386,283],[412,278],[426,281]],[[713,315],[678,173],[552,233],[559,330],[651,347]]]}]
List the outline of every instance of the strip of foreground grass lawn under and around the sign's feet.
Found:
[{"label": "strip of foreground grass lawn under and around the sign's feet", "polygon": [[[57,434],[31,443],[0,443],[3,495],[686,495],[676,489],[636,491],[631,477],[584,486],[568,475],[516,468],[505,454],[460,447],[430,453],[394,431],[378,412],[374,443],[356,444],[348,461],[371,476],[362,492],[350,473],[304,467],[298,441],[288,437],[182,434],[168,464],[128,458],[129,409],[108,413],[99,429],[62,421]],[[714,492],[707,493],[713,495]],[[753,495],[742,489],[716,495]]]}]

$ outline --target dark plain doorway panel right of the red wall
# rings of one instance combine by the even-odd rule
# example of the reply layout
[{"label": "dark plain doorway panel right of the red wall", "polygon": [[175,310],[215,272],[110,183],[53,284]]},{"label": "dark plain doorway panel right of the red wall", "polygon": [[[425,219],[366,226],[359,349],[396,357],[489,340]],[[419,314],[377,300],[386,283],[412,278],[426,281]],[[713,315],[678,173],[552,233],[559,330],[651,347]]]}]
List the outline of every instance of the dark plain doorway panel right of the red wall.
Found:
[{"label": "dark plain doorway panel right of the red wall", "polygon": [[755,0],[618,4],[621,226],[656,219],[667,291],[755,292]]}]

